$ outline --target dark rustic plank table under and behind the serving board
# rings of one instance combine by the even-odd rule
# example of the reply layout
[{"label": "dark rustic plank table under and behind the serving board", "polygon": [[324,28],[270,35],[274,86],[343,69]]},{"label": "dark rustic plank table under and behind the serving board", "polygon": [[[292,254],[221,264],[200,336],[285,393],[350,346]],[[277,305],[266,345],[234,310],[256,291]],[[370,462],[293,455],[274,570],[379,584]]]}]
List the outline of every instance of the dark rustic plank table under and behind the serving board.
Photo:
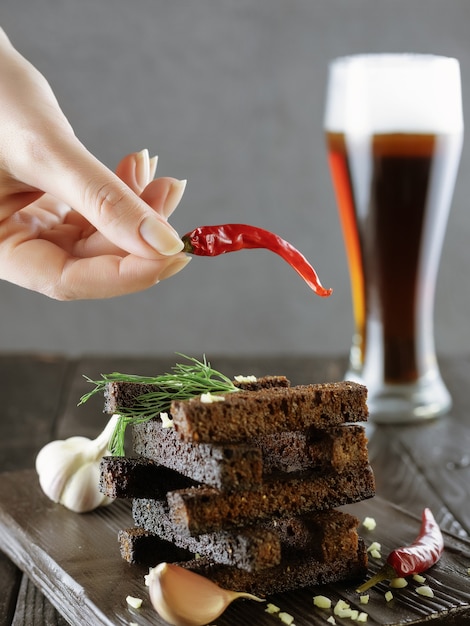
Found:
[{"label": "dark rustic plank table under and behind the serving board", "polygon": [[[282,373],[294,384],[340,380],[346,361],[331,357],[217,357],[214,367],[229,376]],[[33,468],[38,450],[52,439],[95,437],[105,423],[98,397],[78,407],[89,390],[83,374],[157,374],[175,357],[0,355],[0,471]],[[370,459],[378,495],[420,515],[432,507],[441,527],[470,534],[470,356],[442,359],[454,399],[450,415],[417,426],[368,425]],[[27,573],[26,573],[27,574]],[[0,626],[64,626],[67,622],[23,574],[0,553]],[[458,623],[470,623],[470,615]],[[468,622],[466,620],[469,620]]]}]

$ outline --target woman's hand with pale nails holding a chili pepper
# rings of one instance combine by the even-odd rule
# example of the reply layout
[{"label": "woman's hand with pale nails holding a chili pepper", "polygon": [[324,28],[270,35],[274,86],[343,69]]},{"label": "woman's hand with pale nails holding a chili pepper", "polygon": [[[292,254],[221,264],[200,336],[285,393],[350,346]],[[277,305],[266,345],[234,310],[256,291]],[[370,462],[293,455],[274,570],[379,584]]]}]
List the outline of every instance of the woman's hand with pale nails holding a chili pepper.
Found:
[{"label": "woman's hand with pale nails holding a chili pepper", "polygon": [[184,181],[131,154],[114,174],[0,30],[0,278],[60,300],[146,289],[189,261],[167,219]]}]

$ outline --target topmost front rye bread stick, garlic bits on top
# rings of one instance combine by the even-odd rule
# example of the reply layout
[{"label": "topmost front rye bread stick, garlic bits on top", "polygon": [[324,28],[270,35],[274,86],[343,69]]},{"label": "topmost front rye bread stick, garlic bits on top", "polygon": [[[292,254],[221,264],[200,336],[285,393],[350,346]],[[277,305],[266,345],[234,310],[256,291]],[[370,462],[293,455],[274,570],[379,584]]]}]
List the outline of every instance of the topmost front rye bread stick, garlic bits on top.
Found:
[{"label": "topmost front rye bread stick, garlic bits on top", "polygon": [[283,431],[331,428],[367,420],[367,388],[354,382],[239,391],[223,400],[173,401],[170,412],[185,441],[246,442]]}]

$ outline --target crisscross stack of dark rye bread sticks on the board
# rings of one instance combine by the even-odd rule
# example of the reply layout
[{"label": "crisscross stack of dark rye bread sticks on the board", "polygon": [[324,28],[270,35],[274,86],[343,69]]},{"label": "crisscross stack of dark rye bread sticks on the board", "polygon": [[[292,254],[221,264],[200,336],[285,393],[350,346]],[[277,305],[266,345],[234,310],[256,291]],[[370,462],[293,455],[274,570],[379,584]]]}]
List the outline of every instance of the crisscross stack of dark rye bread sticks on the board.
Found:
[{"label": "crisscross stack of dark rye bread sticks on the board", "polygon": [[[132,499],[121,555],[177,562],[222,587],[269,595],[365,575],[359,520],[335,510],[374,495],[364,425],[367,390],[352,382],[239,382],[224,396],[174,401],[172,424],[133,426],[132,457],[105,457],[100,489]],[[105,411],[151,390],[108,383]]]}]

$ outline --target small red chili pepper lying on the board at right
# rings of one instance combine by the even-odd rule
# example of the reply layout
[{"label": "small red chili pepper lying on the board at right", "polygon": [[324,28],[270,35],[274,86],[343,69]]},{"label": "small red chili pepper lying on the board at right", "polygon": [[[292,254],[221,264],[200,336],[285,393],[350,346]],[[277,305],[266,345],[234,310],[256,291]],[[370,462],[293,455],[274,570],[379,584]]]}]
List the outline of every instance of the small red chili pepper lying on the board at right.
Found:
[{"label": "small red chili pepper lying on the board at right", "polygon": [[441,529],[430,509],[424,509],[421,528],[415,541],[410,546],[390,552],[386,564],[357,591],[362,593],[382,580],[421,574],[439,561],[443,550]]}]

